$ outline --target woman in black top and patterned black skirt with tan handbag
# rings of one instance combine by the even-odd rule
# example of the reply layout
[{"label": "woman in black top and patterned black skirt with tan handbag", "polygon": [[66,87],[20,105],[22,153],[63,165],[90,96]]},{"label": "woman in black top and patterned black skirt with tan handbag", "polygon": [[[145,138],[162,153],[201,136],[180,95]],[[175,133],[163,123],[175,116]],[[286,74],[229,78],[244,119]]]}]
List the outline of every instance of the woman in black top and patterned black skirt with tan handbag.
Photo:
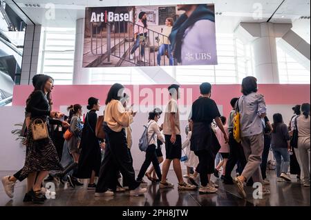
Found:
[{"label": "woman in black top and patterned black skirt with tan handbag", "polygon": [[[50,92],[52,89],[53,79],[46,75],[40,77],[26,105],[26,112],[30,113],[31,123],[35,119],[41,119],[49,127],[49,117],[59,119],[64,115],[50,110],[52,105]],[[31,200],[35,203],[43,203],[45,197],[41,193],[42,181],[50,170],[62,170],[62,166],[50,137],[38,141],[33,140],[31,126],[28,127],[26,146],[26,161],[21,170],[20,178],[28,177],[28,183],[32,183],[32,189],[28,192]]]}]

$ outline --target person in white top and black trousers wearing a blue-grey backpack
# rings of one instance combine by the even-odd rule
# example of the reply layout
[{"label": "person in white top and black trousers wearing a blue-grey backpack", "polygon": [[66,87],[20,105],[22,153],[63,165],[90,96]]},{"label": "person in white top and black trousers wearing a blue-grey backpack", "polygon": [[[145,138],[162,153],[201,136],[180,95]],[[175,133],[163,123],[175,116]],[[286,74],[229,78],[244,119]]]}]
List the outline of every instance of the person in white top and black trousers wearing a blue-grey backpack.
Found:
[{"label": "person in white top and black trousers wearing a blue-grey backpack", "polygon": [[157,139],[162,141],[162,143],[165,143],[164,137],[158,126],[158,120],[160,119],[161,114],[160,112],[161,110],[158,110],[158,108],[154,109],[152,112],[149,112],[149,122],[147,125],[149,146],[146,150],[146,158],[144,159],[144,163],[142,163],[142,167],[140,168],[140,172],[138,173],[138,177],[136,179],[139,183],[146,183],[142,177],[144,177],[144,175],[148,177],[146,171],[149,168],[150,163],[152,163],[158,179],[162,179],[161,169],[156,154],[156,149],[158,148]]}]

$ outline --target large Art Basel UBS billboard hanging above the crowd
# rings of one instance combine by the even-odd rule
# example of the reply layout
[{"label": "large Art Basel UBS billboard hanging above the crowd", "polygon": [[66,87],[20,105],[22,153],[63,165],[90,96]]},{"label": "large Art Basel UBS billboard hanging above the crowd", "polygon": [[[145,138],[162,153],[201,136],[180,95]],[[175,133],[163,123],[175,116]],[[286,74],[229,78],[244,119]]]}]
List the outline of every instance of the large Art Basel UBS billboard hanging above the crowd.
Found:
[{"label": "large Art Basel UBS billboard hanging above the crowd", "polygon": [[83,67],[217,65],[214,5],[86,8]]}]

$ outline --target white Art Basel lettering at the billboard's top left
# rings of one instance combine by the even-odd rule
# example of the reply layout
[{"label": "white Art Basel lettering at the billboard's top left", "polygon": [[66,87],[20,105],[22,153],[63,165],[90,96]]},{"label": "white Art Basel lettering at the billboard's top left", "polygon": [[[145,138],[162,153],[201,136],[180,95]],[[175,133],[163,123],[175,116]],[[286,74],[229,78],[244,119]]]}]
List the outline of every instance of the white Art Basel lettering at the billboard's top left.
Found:
[{"label": "white Art Basel lettering at the billboard's top left", "polygon": [[112,21],[131,21],[132,13],[114,13],[105,10],[101,13],[93,12],[91,15],[91,23],[93,22],[112,22]]}]

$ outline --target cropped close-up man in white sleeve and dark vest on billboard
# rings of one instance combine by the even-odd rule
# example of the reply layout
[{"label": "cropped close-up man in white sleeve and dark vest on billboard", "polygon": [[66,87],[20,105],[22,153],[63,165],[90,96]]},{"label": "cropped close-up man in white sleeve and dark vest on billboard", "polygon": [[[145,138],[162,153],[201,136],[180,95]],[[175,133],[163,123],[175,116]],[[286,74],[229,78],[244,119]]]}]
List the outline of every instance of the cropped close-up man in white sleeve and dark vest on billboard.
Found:
[{"label": "cropped close-up man in white sleeve and dark vest on billboard", "polygon": [[178,5],[184,10],[169,40],[179,65],[216,65],[215,15],[207,5]]}]

